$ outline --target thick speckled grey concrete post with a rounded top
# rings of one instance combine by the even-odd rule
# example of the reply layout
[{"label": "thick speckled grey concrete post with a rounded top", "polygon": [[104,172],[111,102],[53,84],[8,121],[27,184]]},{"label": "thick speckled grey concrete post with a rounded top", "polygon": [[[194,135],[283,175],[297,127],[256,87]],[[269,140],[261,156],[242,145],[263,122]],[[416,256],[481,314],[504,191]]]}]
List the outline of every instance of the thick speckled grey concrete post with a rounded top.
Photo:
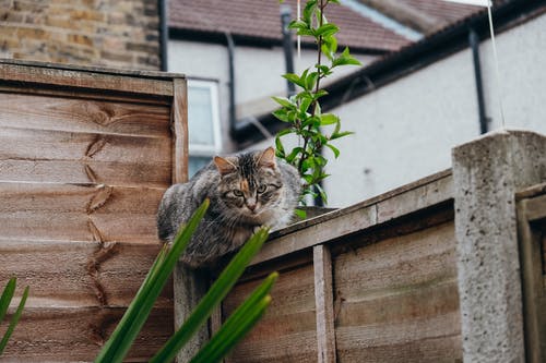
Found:
[{"label": "thick speckled grey concrete post with a rounded top", "polygon": [[489,133],[452,156],[464,362],[524,362],[514,193],[546,180],[546,136]]}]

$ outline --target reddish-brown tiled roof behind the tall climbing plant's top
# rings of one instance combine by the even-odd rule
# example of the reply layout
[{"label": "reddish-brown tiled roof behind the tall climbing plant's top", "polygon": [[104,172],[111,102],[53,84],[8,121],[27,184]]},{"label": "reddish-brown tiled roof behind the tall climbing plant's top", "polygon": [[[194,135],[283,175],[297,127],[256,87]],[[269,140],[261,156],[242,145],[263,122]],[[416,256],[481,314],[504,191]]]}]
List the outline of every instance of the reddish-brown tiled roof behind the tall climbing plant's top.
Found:
[{"label": "reddish-brown tiled roof behind the tall climbing plant's top", "polygon": [[[287,0],[296,17],[296,0]],[[304,4],[305,1],[301,1]],[[169,27],[186,37],[222,35],[262,43],[281,43],[280,4],[276,0],[170,0]],[[410,39],[385,28],[344,5],[331,4],[330,21],[340,26],[337,41],[353,51],[390,52],[410,44]],[[305,40],[305,39],[302,39]]]}]

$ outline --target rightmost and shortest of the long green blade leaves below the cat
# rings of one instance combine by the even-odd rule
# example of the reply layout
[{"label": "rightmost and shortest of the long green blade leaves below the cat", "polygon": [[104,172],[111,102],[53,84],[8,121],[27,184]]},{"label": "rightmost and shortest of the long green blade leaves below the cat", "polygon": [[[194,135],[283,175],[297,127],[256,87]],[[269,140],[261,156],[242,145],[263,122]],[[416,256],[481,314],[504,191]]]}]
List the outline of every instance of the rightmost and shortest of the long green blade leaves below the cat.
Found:
[{"label": "rightmost and shortest of the long green blade leaves below the cat", "polygon": [[190,363],[217,362],[233,348],[263,315],[271,301],[269,292],[278,274],[271,274],[252,294],[229,316],[219,330]]}]

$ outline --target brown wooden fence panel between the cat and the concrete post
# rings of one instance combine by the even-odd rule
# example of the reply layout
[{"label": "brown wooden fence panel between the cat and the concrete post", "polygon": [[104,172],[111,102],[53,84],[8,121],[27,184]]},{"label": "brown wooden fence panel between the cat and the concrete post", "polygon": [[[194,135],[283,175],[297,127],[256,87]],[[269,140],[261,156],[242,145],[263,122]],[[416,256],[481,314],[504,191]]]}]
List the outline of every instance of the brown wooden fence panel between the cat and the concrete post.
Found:
[{"label": "brown wooden fence panel between the cat and the concrete post", "polygon": [[441,172],[275,233],[224,304],[280,271],[228,362],[462,361],[452,187]]}]

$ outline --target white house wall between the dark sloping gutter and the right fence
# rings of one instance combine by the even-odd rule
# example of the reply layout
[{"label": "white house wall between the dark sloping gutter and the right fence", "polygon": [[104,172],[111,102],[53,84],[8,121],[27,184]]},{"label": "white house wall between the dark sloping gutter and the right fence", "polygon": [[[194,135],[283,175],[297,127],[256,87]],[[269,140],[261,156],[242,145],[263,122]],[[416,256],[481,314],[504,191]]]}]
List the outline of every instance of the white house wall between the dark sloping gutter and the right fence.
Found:
[{"label": "white house wall between the dark sloping gutter and the right fence", "polygon": [[[497,36],[506,124],[546,133],[546,15]],[[491,43],[480,46],[490,130],[501,124]],[[451,148],[478,136],[471,50],[455,53],[333,110],[356,135],[339,141],[325,181],[346,206],[451,166]],[[545,156],[546,157],[546,156]]]}]

